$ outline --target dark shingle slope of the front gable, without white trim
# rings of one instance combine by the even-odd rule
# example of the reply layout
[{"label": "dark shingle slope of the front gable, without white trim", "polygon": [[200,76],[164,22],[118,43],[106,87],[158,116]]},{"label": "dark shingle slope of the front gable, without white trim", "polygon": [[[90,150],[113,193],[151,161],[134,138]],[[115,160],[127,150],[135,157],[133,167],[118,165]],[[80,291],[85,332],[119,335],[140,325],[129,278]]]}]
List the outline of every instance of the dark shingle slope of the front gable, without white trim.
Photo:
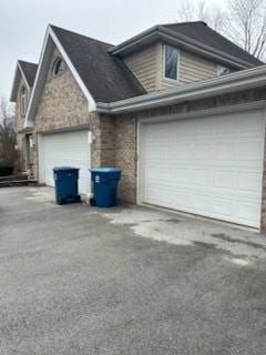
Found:
[{"label": "dark shingle slope of the front gable, without white trim", "polygon": [[96,102],[112,102],[145,93],[112,47],[89,37],[51,26],[72,64]]}]

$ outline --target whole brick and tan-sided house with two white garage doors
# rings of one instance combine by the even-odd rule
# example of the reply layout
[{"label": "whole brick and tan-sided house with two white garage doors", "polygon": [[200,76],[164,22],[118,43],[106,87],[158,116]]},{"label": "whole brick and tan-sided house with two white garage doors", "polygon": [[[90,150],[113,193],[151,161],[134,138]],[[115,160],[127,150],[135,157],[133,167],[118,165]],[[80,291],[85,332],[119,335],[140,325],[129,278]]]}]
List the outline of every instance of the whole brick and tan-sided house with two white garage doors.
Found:
[{"label": "whole brick and tan-sided house with two white garage doors", "polygon": [[11,100],[41,183],[73,165],[90,195],[89,168],[117,165],[124,201],[266,230],[266,67],[206,23],[119,45],[49,26],[29,67],[34,83],[18,62]]}]

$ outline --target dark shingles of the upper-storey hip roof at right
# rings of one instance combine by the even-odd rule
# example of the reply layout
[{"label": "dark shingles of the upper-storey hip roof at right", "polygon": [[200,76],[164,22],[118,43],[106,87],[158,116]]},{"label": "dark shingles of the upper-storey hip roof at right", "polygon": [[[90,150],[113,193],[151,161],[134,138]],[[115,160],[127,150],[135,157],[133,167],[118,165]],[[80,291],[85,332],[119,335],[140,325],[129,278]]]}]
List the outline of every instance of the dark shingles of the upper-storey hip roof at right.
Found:
[{"label": "dark shingles of the upper-storey hip roof at right", "polygon": [[192,40],[202,42],[203,44],[212,47],[213,49],[219,50],[224,53],[249,62],[254,65],[263,64],[263,62],[259,61],[257,58],[244,51],[242,48],[231,42],[228,39],[219,34],[218,32],[211,29],[203,21],[163,24],[163,27],[180,34],[183,34]]}]

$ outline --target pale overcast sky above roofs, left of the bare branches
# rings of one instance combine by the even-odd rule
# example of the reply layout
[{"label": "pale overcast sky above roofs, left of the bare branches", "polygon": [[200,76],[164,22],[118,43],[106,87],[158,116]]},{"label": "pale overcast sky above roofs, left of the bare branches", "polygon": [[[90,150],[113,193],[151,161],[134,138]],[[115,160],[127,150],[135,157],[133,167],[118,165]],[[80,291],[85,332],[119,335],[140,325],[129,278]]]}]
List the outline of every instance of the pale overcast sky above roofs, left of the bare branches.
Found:
[{"label": "pale overcast sky above roofs, left of the bare branches", "polygon": [[154,24],[173,22],[177,3],[178,0],[0,0],[0,95],[9,99],[17,59],[39,61],[49,23],[116,44]]}]

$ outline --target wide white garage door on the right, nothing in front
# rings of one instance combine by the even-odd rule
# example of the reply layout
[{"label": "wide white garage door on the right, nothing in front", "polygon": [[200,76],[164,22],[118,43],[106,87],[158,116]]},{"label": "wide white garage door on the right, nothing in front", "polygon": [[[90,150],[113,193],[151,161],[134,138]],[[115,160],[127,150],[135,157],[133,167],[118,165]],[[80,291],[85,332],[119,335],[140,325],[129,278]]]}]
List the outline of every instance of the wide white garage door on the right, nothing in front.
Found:
[{"label": "wide white garage door on the right, nothing in front", "polygon": [[141,124],[141,201],[259,226],[264,112]]}]

